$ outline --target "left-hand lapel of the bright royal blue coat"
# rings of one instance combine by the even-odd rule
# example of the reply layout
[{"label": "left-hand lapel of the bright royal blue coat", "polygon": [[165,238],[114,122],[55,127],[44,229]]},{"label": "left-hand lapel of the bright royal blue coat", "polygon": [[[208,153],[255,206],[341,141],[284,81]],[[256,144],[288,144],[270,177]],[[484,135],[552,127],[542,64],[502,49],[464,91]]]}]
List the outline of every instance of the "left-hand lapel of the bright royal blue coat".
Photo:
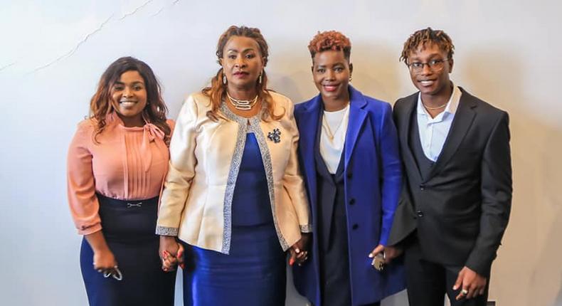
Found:
[{"label": "left-hand lapel of the bright royal blue coat", "polygon": [[[306,174],[307,185],[309,186],[309,196],[312,202],[312,211],[314,214],[317,206],[317,181],[316,181],[316,164],[314,162],[314,143],[316,142],[316,133],[318,127],[318,118],[322,110],[322,97],[317,95],[307,105],[307,108],[299,116],[299,151],[301,152],[304,174]],[[316,224],[316,222],[314,222]]]}]

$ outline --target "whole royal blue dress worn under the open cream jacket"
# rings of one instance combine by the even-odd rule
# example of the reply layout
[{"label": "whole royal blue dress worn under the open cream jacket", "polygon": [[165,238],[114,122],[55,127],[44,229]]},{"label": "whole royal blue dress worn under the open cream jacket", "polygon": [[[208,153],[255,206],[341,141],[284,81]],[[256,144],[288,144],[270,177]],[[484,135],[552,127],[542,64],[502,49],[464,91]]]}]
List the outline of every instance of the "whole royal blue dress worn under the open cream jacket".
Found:
[{"label": "whole royal blue dress worn under the open cream jacket", "polygon": [[258,140],[246,134],[232,201],[229,254],[186,247],[185,305],[285,305],[285,253],[271,211]]}]

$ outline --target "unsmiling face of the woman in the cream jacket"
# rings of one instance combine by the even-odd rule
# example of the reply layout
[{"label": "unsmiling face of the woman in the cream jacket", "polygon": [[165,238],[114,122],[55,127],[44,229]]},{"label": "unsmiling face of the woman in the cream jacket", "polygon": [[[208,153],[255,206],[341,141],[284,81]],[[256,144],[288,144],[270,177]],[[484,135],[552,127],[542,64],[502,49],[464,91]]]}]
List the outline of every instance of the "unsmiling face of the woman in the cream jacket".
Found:
[{"label": "unsmiling face of the woman in the cream jacket", "polygon": [[258,42],[253,38],[232,36],[224,46],[221,58],[228,88],[255,88],[263,63]]}]

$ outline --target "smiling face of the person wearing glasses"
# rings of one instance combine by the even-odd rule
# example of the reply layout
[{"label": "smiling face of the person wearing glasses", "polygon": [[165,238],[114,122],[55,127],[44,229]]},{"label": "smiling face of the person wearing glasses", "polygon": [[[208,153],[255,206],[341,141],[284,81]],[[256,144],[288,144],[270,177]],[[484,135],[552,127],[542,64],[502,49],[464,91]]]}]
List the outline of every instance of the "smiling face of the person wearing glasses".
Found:
[{"label": "smiling face of the person wearing glasses", "polygon": [[408,64],[412,63],[429,63],[431,60],[446,60],[442,68],[432,70],[429,65],[423,65],[423,69],[416,72],[410,69],[410,78],[412,83],[420,93],[422,98],[425,97],[443,97],[450,92],[451,81],[449,73],[452,71],[452,58],[447,60],[447,52],[441,50],[438,44],[430,43],[425,46],[418,46],[415,51],[410,52],[408,56]]}]

